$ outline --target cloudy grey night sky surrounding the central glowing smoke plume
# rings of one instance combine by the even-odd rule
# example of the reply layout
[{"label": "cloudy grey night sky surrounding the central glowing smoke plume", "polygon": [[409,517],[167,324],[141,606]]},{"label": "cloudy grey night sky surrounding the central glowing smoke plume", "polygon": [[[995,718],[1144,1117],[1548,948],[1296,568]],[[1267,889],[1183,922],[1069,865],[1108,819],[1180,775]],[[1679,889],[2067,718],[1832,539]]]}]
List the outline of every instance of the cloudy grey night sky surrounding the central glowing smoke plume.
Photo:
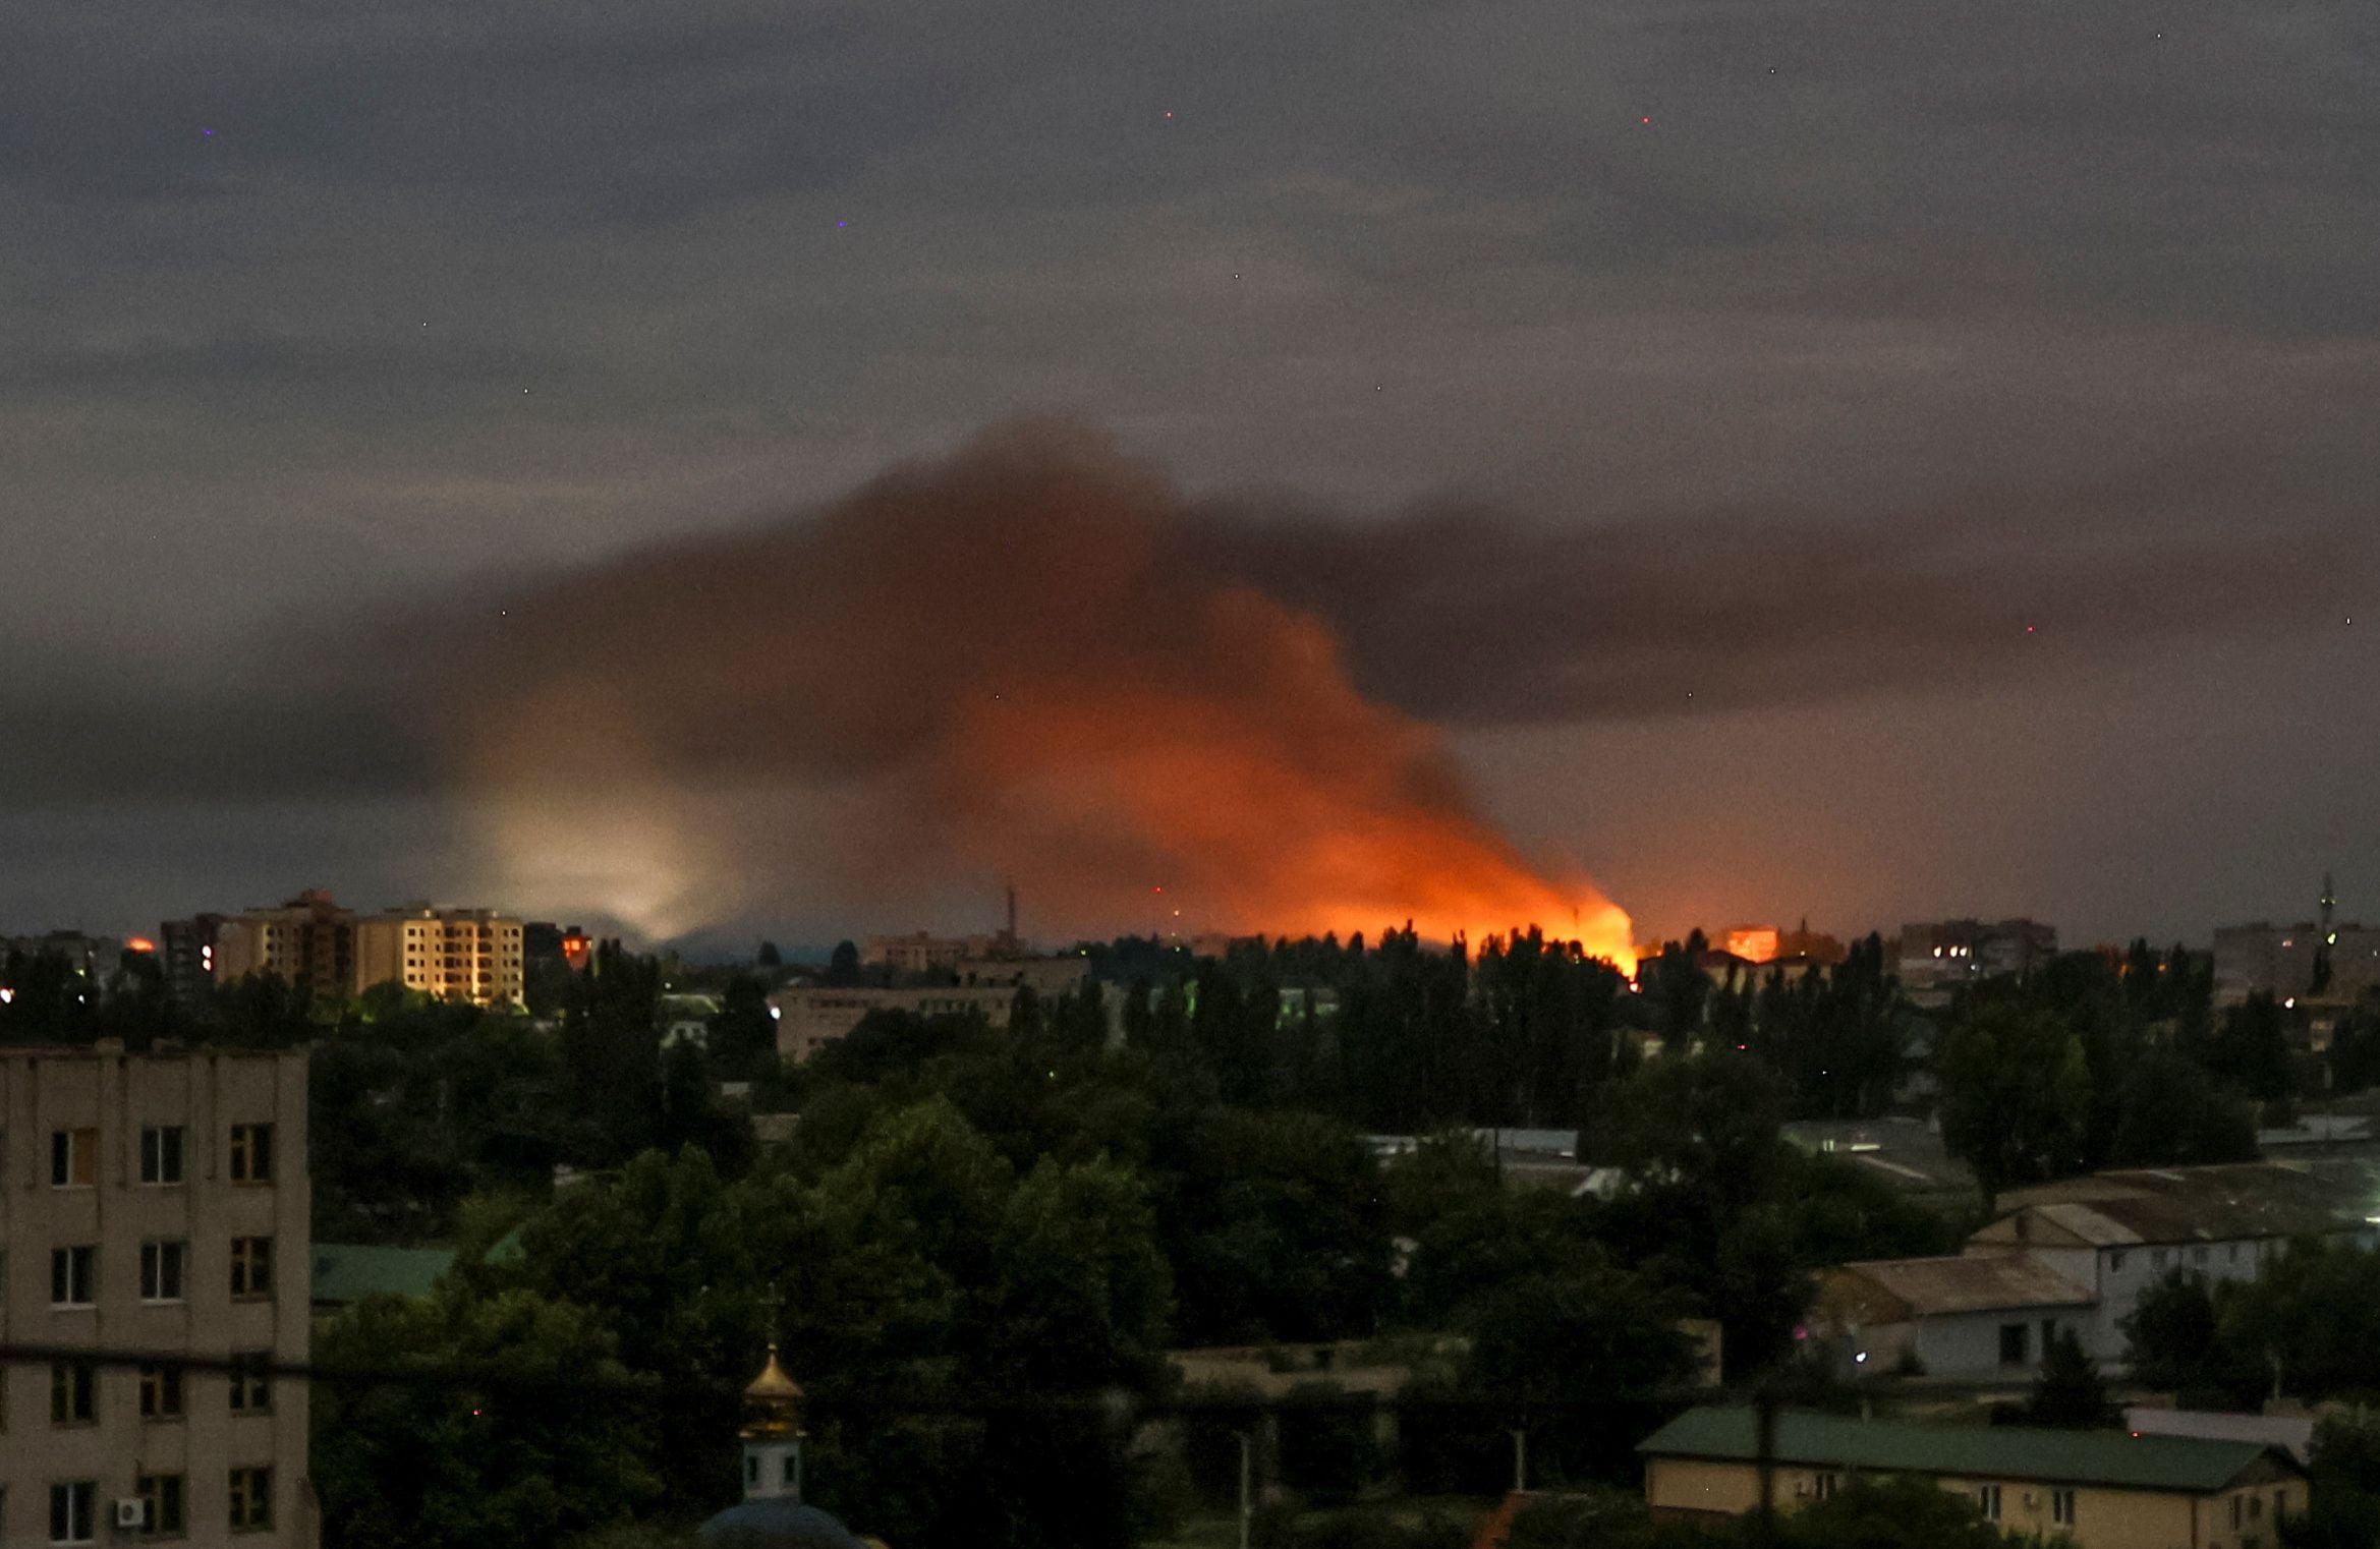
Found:
[{"label": "cloudy grey night sky surrounding the central glowing smoke plume", "polygon": [[2370,5],[95,0],[0,228],[0,930],[626,918],[416,659],[1019,416],[1647,930],[2380,918]]}]

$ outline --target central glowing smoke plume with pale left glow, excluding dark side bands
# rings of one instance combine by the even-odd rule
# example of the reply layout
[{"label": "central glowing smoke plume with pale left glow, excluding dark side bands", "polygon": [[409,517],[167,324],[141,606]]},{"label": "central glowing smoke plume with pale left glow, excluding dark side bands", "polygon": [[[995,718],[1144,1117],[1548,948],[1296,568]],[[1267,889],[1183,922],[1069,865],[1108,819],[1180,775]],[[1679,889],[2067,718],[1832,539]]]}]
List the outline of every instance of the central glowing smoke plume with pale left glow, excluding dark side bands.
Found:
[{"label": "central glowing smoke plume with pale left glow, excluding dark side bands", "polygon": [[1007,428],[521,592],[428,702],[514,888],[593,890],[654,933],[752,902],[724,885],[973,871],[1069,928],[1542,923],[1630,957],[1628,918],[1497,835],[1323,621],[1190,538],[1152,469]]}]

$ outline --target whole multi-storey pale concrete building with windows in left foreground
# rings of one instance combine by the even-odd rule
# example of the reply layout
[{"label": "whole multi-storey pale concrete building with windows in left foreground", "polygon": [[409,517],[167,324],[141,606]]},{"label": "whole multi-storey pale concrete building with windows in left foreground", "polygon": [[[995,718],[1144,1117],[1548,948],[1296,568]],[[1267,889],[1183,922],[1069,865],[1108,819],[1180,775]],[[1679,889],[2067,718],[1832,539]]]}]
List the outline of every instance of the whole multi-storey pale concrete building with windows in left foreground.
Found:
[{"label": "whole multi-storey pale concrete building with windows in left foreground", "polygon": [[[314,1542],[307,1056],[0,1049],[0,1544]],[[226,1371],[228,1368],[228,1371]]]}]

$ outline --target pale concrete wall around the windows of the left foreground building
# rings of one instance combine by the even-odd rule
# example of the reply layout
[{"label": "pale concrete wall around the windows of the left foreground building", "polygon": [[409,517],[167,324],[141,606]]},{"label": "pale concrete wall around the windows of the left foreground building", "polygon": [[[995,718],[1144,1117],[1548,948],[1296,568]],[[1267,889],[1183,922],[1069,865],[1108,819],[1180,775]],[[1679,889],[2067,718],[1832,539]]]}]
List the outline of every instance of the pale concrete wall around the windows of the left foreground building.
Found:
[{"label": "pale concrete wall around the windows of the left foreground building", "polygon": [[[274,1180],[231,1180],[231,1125],[274,1125]],[[140,1183],[140,1133],[183,1128],[183,1183]],[[202,1356],[307,1359],[307,1056],[0,1052],[0,1340]],[[57,1130],[95,1130],[90,1185],[52,1187]],[[233,1299],[233,1237],[271,1237],[274,1290]],[[183,1299],[140,1297],[140,1244],[188,1242]],[[50,1249],[98,1247],[93,1309],[50,1306]],[[140,1418],[133,1368],[95,1373],[95,1423],[52,1425],[50,1371],[17,1366],[0,1390],[0,1544],[45,1544],[50,1485],[98,1485],[98,1542],[124,1542],[114,1501],[136,1475],[186,1478],[186,1537],[198,1549],[312,1544],[307,1387],[274,1382],[269,1413],[233,1413],[231,1380],[188,1373],[183,1418]],[[271,1468],[271,1530],[228,1528],[240,1466]]]}]

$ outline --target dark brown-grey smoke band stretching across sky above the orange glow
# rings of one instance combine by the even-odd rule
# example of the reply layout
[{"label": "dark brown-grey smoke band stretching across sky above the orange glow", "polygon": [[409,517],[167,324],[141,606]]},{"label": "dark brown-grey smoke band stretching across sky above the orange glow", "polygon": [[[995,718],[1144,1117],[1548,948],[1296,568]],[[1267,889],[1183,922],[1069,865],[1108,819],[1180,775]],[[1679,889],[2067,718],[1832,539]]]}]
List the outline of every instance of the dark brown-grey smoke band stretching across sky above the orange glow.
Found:
[{"label": "dark brown-grey smoke band stretching across sky above the orange glow", "polygon": [[[2368,531],[2275,543],[2194,528],[2180,481],[2161,497],[1999,488],[1866,521],[1347,514],[1288,497],[1190,504],[1152,481],[1092,433],[1004,428],[947,469],[895,469],[823,512],[557,576],[481,578],[466,602],[421,597],[364,626],[293,626],[178,697],[167,683],[19,695],[0,702],[24,733],[0,795],[431,790],[457,707],[495,716],[512,776],[536,783],[602,778],[590,745],[693,783],[873,776],[933,738],[938,700],[921,685],[942,673],[928,657],[1031,657],[1038,621],[1114,604],[1095,554],[1109,507],[1114,564],[1154,564],[1180,595],[1247,588],[1316,619],[1357,688],[1468,728],[2054,685],[2152,645],[2340,628],[2375,581]],[[1057,493],[1064,543],[1009,533],[1031,509],[1019,483]],[[883,493],[912,485],[931,500]],[[871,523],[895,535],[871,538]],[[921,616],[926,640],[885,645]],[[1066,650],[1033,657],[1035,671],[1107,671],[1097,640],[1066,635]],[[564,735],[571,707],[619,719],[624,704],[638,707],[635,735]]]}]

